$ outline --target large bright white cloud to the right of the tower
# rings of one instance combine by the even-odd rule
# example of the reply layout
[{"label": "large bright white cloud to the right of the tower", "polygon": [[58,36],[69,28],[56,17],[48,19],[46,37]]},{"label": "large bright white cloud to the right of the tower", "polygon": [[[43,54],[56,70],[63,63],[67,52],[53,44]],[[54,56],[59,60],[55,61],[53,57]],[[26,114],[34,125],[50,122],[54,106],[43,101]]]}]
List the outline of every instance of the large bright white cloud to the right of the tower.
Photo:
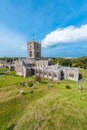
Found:
[{"label": "large bright white cloud to the right of the tower", "polygon": [[78,43],[84,41],[87,41],[87,24],[79,28],[74,26],[58,28],[46,35],[42,40],[42,46],[49,47],[60,43]]}]

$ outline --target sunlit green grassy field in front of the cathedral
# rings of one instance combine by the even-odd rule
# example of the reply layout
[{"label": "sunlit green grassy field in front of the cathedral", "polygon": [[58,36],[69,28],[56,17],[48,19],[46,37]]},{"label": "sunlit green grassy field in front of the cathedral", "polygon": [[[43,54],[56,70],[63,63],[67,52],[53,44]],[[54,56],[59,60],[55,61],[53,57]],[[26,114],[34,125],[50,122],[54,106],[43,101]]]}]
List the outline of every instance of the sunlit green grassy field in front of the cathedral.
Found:
[{"label": "sunlit green grassy field in front of the cathedral", "polygon": [[0,130],[87,130],[87,70],[81,73],[82,91],[69,80],[0,76]]}]

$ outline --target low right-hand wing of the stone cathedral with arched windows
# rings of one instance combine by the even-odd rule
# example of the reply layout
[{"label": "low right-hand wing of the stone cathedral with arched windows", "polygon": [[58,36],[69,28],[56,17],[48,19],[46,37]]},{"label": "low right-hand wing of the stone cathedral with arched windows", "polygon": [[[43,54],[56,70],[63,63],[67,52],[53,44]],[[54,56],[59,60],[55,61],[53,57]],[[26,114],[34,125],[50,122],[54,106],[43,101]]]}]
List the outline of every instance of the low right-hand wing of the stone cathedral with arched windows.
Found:
[{"label": "low right-hand wing of the stone cathedral with arched windows", "polygon": [[79,80],[79,69],[72,67],[58,67],[57,66],[48,66],[48,67],[36,67],[35,74],[40,75],[41,77],[52,79],[52,80],[61,80],[69,79],[78,81]]}]

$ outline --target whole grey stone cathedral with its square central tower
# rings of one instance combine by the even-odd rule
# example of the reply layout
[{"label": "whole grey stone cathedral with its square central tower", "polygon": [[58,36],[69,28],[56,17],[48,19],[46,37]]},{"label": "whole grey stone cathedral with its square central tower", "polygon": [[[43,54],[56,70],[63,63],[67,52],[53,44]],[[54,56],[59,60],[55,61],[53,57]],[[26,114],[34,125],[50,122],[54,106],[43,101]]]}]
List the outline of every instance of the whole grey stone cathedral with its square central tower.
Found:
[{"label": "whole grey stone cathedral with its square central tower", "polygon": [[39,75],[51,80],[60,81],[62,79],[79,80],[79,68],[53,65],[52,59],[41,58],[41,44],[36,41],[27,42],[27,59],[15,61],[15,71],[17,75],[29,77]]}]

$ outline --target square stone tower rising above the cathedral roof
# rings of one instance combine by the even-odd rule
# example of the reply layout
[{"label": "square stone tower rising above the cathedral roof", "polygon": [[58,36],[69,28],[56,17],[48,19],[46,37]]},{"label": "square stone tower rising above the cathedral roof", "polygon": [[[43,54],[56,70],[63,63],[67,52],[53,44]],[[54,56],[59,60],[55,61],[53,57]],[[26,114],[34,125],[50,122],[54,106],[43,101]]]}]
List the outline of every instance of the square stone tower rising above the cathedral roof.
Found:
[{"label": "square stone tower rising above the cathedral roof", "polygon": [[41,59],[41,44],[36,41],[27,42],[28,58]]}]

